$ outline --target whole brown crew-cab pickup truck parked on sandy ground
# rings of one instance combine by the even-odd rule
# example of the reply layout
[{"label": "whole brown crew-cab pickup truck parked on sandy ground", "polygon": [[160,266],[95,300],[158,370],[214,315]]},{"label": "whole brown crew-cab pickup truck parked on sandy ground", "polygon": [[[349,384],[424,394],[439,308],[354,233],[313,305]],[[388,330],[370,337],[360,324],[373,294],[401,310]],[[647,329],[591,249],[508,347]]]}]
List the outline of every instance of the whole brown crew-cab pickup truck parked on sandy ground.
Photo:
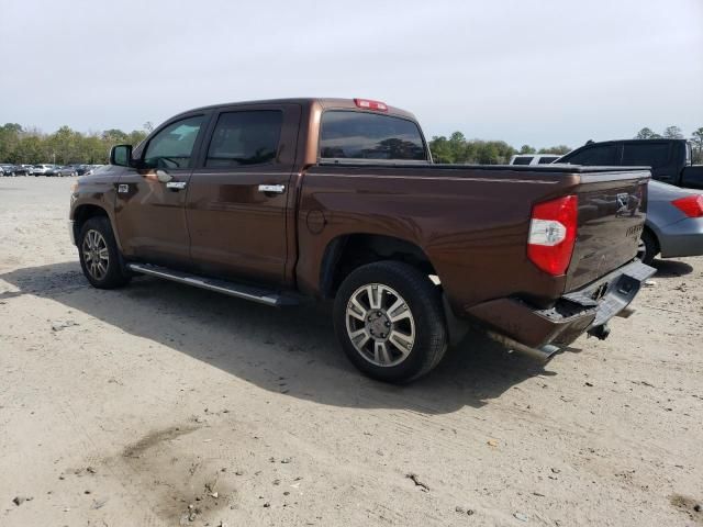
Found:
[{"label": "whole brown crew-cab pickup truck parked on sandy ground", "polygon": [[97,288],[150,274],[281,306],[334,299],[365,373],[432,370],[468,325],[549,357],[627,305],[649,171],[434,165],[412,114],[290,99],[181,113],[78,179],[70,232]]}]

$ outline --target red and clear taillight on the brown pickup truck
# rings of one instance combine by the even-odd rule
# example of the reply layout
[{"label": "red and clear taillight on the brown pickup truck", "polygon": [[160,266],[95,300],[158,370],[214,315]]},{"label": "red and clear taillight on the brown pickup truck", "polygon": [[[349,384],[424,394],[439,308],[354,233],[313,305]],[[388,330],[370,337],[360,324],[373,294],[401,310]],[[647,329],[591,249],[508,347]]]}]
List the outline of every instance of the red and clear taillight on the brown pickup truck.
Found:
[{"label": "red and clear taillight on the brown pickup truck", "polygon": [[549,274],[563,274],[569,268],[573,245],[579,200],[566,195],[532,209],[527,257]]}]

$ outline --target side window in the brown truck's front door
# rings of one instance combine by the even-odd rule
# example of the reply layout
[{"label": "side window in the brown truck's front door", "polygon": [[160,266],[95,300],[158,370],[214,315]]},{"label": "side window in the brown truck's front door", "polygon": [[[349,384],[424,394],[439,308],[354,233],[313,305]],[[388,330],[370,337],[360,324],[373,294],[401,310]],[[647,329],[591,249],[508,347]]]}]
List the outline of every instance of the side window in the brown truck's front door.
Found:
[{"label": "side window in the brown truck's front door", "polygon": [[149,141],[144,153],[147,168],[190,168],[193,146],[204,115],[169,124]]}]

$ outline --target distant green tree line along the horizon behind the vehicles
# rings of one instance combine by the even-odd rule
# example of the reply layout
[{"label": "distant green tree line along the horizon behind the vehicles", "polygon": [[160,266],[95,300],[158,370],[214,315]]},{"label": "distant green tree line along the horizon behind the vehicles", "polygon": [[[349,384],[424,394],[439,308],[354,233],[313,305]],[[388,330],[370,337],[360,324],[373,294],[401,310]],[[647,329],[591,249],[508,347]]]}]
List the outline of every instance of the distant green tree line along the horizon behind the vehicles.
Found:
[{"label": "distant green tree line along the horizon behind the vehicles", "polygon": [[[111,128],[103,132],[81,133],[68,126],[62,126],[53,134],[45,134],[35,128],[23,128],[16,123],[0,126],[0,161],[15,165],[34,165],[38,162],[69,164],[105,164],[110,147],[118,144],[136,146],[153,128],[145,123],[143,130],[123,132]],[[684,138],[679,126],[668,126],[661,134],[644,127],[634,138]],[[689,141],[693,145],[694,162],[703,162],[703,126],[695,130]],[[461,132],[449,137],[434,136],[429,149],[435,162],[461,162],[477,165],[501,165],[510,161],[516,154],[566,154],[571,150],[567,145],[535,148],[522,145],[514,148],[504,141],[467,139]]]}]

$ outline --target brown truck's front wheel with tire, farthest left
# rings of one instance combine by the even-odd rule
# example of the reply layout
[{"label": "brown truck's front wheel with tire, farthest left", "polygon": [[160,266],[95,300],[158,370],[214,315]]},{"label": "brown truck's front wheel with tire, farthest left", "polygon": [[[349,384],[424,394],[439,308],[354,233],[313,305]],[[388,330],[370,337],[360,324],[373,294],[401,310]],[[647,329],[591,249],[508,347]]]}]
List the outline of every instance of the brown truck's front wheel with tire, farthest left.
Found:
[{"label": "brown truck's front wheel with tire, farthest left", "polygon": [[105,216],[93,216],[83,223],[78,237],[78,255],[83,274],[93,288],[115,289],[125,285],[124,273],[112,226]]}]

